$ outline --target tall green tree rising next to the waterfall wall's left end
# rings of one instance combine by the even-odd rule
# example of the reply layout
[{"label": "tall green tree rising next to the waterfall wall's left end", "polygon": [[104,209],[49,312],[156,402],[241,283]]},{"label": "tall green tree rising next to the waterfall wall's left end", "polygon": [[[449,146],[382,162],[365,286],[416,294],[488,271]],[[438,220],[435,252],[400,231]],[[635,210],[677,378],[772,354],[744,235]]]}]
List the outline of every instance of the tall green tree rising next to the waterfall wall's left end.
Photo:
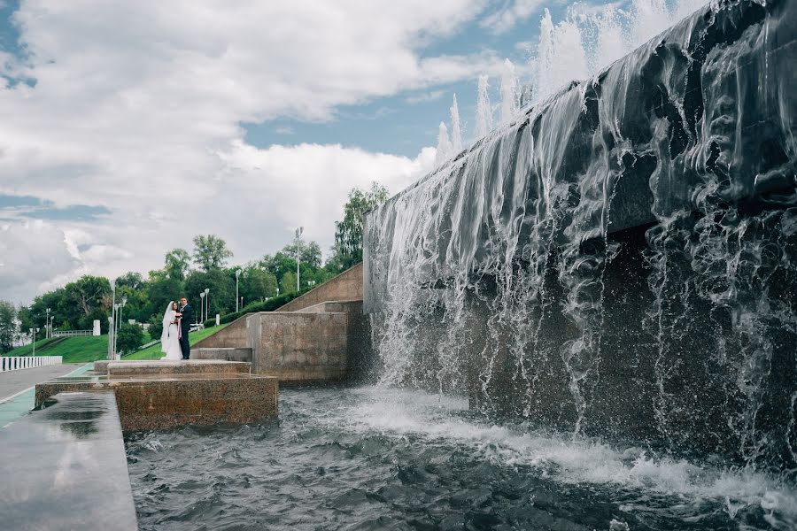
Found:
[{"label": "tall green tree rising next to the waterfall wall's left end", "polygon": [[337,272],[362,261],[362,227],[365,213],[388,199],[388,190],[374,182],[370,190],[352,189],[344,205],[344,219],[335,222],[335,246],[330,264]]}]

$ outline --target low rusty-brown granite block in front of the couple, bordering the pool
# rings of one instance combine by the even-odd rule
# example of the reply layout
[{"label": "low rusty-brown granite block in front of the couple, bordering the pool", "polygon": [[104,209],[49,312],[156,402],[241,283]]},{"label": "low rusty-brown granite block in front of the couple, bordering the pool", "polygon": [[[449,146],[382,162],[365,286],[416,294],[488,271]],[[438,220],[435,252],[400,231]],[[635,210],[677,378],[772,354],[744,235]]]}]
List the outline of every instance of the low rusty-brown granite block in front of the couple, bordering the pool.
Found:
[{"label": "low rusty-brown granite block in front of the couple, bordering the pool", "polygon": [[36,386],[35,404],[66,391],[108,391],[116,397],[122,431],[187,424],[249,424],[277,416],[278,380],[250,374],[180,374],[112,380],[102,376]]}]

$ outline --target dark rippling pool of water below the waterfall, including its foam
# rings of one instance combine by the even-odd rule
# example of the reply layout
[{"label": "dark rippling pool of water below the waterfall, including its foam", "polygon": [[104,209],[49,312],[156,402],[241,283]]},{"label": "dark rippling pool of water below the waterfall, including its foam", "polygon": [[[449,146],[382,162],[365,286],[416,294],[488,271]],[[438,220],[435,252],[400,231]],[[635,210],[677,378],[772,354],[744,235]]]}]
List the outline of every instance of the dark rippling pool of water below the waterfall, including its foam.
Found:
[{"label": "dark rippling pool of water below the waterfall, including its foam", "polygon": [[793,480],[493,425],[465,400],[283,389],[280,419],[128,435],[142,529],[795,529]]}]

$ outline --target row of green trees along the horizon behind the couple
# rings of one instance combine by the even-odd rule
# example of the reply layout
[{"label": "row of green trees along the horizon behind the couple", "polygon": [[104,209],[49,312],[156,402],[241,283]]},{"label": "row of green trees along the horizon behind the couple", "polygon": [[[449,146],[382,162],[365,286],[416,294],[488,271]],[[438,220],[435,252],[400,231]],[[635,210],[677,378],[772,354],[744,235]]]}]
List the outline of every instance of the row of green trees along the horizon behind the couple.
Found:
[{"label": "row of green trees along the horizon behind the couple", "polygon": [[[318,243],[298,244],[301,289],[328,281],[362,261],[363,216],[387,197],[387,189],[376,183],[371,189],[352,189],[344,205],[343,219],[335,224],[335,244],[325,263]],[[160,328],[166,305],[176,297],[187,296],[198,317],[199,294],[205,289],[209,289],[209,315],[235,312],[237,272],[240,272],[237,273],[240,307],[295,292],[296,257],[297,243],[291,242],[259,260],[230,266],[233,253],[227,242],[217,235],[197,235],[191,252],[180,248],[169,250],[163,266],[146,276],[128,272],[116,278],[116,302],[125,303],[121,309],[124,321],[151,323],[154,333]],[[56,330],[91,329],[94,320],[99,319],[106,334],[111,307],[111,281],[94,275],[84,275],[36,296],[32,304],[15,307],[11,302],[0,301],[0,354],[12,350],[31,328],[39,329],[37,339],[43,338],[48,308]]]}]

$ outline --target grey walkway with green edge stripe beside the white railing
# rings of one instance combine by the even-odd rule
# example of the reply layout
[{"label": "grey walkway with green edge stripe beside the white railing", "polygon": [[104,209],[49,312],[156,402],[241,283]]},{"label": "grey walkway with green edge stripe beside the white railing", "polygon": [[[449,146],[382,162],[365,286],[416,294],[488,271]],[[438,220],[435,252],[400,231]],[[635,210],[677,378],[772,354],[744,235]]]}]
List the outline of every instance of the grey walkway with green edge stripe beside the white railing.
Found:
[{"label": "grey walkway with green edge stripe beside the white railing", "polygon": [[83,372],[91,364],[64,364],[0,373],[0,428],[33,409],[35,385],[59,376]]}]

